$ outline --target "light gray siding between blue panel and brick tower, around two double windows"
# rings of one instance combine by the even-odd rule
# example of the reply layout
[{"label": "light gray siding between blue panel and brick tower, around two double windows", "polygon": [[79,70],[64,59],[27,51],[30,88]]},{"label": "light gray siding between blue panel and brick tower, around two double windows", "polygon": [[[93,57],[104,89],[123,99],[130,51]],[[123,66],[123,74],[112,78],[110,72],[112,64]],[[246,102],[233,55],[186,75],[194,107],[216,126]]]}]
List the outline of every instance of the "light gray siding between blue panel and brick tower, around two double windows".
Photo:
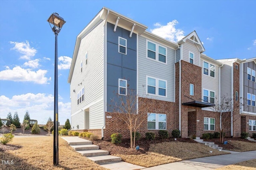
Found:
[{"label": "light gray siding between blue panel and brick tower, around two double windows", "polygon": [[[151,41],[151,40],[150,40]],[[154,41],[152,41],[154,42]],[[158,42],[155,42],[158,43]],[[159,43],[158,43],[159,44]],[[163,45],[166,47],[165,45]],[[175,63],[175,50],[167,47],[167,57],[165,63],[153,61],[146,58],[146,38],[138,36],[138,94],[145,96],[146,94],[146,76],[152,76],[167,80],[167,98],[159,96],[151,96],[154,99],[165,100],[174,102],[174,63]]]}]

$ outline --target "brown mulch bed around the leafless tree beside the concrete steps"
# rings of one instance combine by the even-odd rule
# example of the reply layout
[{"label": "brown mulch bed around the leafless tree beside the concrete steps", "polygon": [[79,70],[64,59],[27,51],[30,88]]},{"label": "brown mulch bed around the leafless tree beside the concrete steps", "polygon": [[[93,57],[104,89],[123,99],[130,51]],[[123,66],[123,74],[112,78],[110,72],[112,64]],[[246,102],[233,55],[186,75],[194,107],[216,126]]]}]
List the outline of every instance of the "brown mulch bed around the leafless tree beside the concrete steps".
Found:
[{"label": "brown mulch bed around the leafless tree beside the concrete steps", "polygon": [[[154,141],[147,141],[145,138],[140,139],[139,141],[135,142],[135,146],[139,146],[140,149],[136,150],[134,148],[130,148],[130,139],[122,139],[122,143],[115,145],[111,143],[111,141],[92,141],[94,145],[98,145],[101,150],[108,150],[109,154],[145,154],[148,152],[150,144],[153,143],[162,143],[162,142],[171,142],[174,141],[174,138],[169,139],[159,139]],[[177,138],[179,142],[186,142],[186,143],[197,143],[196,141],[189,139],[189,138]]]}]

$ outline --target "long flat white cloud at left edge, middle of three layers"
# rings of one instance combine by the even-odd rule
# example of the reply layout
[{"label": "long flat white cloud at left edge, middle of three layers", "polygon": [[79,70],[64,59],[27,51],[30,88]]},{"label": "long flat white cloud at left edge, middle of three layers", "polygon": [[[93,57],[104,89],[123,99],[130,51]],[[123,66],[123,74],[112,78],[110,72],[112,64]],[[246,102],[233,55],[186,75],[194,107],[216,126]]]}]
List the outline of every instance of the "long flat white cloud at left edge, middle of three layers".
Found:
[{"label": "long flat white cloud at left edge, middle of three layers", "polygon": [[32,71],[16,66],[11,69],[0,71],[0,80],[11,80],[15,82],[34,82],[35,84],[49,84],[50,78],[46,77],[47,70]]}]

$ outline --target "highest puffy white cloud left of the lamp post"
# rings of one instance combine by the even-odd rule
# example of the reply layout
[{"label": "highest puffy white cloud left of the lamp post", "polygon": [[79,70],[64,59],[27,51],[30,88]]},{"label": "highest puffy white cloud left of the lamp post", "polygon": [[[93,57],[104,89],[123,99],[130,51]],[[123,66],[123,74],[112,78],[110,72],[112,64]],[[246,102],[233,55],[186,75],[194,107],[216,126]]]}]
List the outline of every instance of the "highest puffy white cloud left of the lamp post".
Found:
[{"label": "highest puffy white cloud left of the lamp post", "polygon": [[15,45],[13,48],[11,48],[11,50],[15,50],[15,51],[18,51],[19,53],[23,54],[22,56],[20,56],[20,59],[30,60],[37,53],[37,50],[34,49],[34,47],[30,47],[28,41],[26,41],[26,43],[10,41],[10,43]]}]

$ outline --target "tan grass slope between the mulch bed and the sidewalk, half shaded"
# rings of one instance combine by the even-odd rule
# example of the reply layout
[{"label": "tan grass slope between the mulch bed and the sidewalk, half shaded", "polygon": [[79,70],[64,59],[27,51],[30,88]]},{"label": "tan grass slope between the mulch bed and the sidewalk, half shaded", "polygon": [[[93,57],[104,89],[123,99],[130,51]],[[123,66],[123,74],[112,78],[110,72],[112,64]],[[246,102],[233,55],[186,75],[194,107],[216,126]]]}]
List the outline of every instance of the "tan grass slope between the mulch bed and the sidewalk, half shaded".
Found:
[{"label": "tan grass slope between the mulch bed and the sidewalk, half shaded", "polygon": [[[212,151],[212,153],[210,153],[210,151]],[[206,145],[202,145],[200,143],[185,143],[176,141],[151,144],[149,152],[147,152],[146,154],[116,154],[115,156],[120,156],[125,162],[144,167],[151,167],[161,164],[178,162],[181,160],[188,160],[220,154],[228,153],[221,152],[216,149],[211,149],[210,147],[207,147]]]}]

